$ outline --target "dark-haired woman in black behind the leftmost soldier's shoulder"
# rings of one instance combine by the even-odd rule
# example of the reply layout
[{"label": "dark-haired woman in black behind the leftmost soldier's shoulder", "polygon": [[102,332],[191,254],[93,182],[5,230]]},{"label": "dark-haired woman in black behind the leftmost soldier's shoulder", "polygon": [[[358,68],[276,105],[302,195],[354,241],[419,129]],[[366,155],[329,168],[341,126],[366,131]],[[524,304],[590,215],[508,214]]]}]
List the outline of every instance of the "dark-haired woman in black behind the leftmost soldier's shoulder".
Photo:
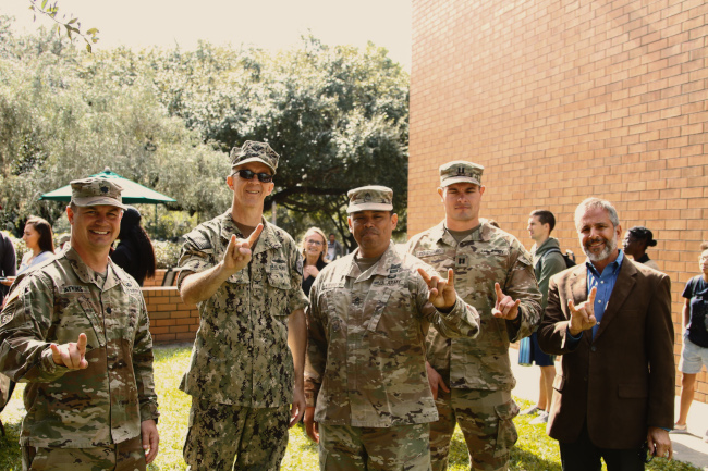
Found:
[{"label": "dark-haired woman in black behind the leftmost soldier's shoulder", "polygon": [[157,263],[152,243],[141,226],[141,212],[132,206],[123,211],[121,233],[118,235],[120,243],[111,253],[111,260],[143,286],[146,276],[155,277]]}]

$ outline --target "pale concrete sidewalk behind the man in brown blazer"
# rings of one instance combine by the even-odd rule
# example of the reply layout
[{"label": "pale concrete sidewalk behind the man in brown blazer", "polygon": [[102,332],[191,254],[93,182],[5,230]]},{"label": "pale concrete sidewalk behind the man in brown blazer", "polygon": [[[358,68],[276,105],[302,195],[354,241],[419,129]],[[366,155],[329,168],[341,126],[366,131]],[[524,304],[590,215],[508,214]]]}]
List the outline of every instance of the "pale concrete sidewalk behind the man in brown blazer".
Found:
[{"label": "pale concrete sidewalk behind the man in brown blazer", "polygon": [[[520,367],[518,350],[509,349],[511,368],[516,376],[516,387],[512,392],[514,396],[528,400],[538,400],[538,380],[540,371],[538,367]],[[674,408],[679,417],[679,396]],[[671,434],[673,443],[673,459],[689,462],[693,466],[708,471],[708,443],[703,441],[706,429],[708,429],[708,404],[694,401],[688,412],[688,433]]]}]

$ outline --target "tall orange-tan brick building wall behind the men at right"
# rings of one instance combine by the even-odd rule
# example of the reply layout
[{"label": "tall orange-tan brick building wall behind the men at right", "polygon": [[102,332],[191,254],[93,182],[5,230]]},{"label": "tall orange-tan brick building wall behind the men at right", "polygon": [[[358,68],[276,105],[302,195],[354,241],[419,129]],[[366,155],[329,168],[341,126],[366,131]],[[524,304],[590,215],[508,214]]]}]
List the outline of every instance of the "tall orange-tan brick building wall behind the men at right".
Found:
[{"label": "tall orange-tan brick building wall behind the men at right", "polygon": [[414,0],[408,234],[442,219],[449,160],[486,166],[481,215],[526,247],[545,208],[582,253],[573,211],[607,198],[659,241],[678,364],[681,293],[708,239],[707,18],[703,0]]}]

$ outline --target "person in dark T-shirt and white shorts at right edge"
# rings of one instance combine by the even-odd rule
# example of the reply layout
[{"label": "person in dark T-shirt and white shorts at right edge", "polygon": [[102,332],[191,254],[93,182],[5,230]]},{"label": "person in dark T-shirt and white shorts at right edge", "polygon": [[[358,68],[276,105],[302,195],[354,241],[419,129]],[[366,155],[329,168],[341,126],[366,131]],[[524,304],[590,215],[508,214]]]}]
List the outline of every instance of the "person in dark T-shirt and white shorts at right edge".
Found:
[{"label": "person in dark T-shirt and white shorts at right edge", "polygon": [[[688,280],[683,290],[683,348],[679,361],[681,407],[674,433],[687,433],[686,420],[696,391],[696,375],[704,365],[708,368],[708,243],[703,243],[700,250],[698,268],[701,273]],[[708,430],[704,442],[708,443]]]}]

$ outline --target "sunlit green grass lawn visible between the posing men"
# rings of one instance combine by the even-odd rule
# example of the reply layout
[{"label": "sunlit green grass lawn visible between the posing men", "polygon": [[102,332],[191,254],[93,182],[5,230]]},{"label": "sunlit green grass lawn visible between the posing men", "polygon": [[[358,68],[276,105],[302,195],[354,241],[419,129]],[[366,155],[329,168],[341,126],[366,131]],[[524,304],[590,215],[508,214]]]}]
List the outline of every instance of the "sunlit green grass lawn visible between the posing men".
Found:
[{"label": "sunlit green grass lawn visible between the posing men", "polygon": [[[190,397],[178,389],[180,379],[190,360],[188,346],[159,347],[155,350],[155,382],[160,402],[160,453],[152,464],[151,471],[184,470],[182,459],[182,441],[186,434]],[[0,441],[0,470],[15,471],[22,469],[17,437],[20,423],[24,414],[22,406],[23,386],[19,385],[13,398],[2,412],[7,436]],[[530,404],[518,400],[523,408]],[[518,431],[518,442],[512,451],[512,470],[525,471],[560,471],[560,455],[554,439],[546,435],[545,426],[530,425],[532,418],[517,417],[514,421]],[[317,447],[305,435],[302,425],[295,426],[290,433],[288,453],[282,463],[288,471],[309,471],[318,469]],[[469,469],[467,448],[460,430],[455,431],[450,451],[451,471]],[[698,468],[679,461],[655,459],[647,466],[648,470],[661,471],[700,471]]]}]

